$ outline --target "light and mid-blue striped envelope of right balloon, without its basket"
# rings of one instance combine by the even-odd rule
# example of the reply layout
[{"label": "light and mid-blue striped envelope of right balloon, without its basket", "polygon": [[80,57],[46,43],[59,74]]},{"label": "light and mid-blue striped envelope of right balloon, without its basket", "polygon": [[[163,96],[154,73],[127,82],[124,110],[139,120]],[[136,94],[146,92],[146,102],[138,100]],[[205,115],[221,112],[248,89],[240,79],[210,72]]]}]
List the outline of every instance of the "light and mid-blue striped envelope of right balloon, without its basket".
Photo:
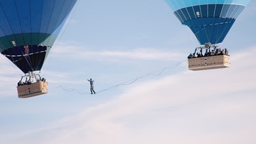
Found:
[{"label": "light and mid-blue striped envelope of right balloon, without its basket", "polygon": [[223,42],[238,15],[251,0],[165,0],[200,44]]}]

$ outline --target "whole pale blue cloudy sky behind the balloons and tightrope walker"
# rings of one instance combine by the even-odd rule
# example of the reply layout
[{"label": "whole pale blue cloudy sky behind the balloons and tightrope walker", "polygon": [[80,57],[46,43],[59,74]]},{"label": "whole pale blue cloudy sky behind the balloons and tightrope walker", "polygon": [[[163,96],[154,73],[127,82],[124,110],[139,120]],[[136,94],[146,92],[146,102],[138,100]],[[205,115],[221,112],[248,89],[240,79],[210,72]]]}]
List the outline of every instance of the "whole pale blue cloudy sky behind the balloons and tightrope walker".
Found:
[{"label": "whole pale blue cloudy sky behind the balloons and tightrope walker", "polygon": [[[192,72],[199,43],[165,1],[79,1],[42,68],[46,95],[19,99],[23,73],[0,57],[0,143],[255,143],[255,7],[221,44],[231,68]],[[101,91],[139,76],[87,94],[87,78]]]}]

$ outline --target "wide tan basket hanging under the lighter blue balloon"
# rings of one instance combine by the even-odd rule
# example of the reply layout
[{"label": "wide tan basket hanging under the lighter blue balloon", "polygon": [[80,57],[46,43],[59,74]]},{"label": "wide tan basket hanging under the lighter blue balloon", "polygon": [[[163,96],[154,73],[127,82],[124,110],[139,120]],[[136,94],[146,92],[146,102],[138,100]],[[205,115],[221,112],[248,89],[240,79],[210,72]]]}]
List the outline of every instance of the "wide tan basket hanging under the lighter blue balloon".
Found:
[{"label": "wide tan basket hanging under the lighter blue balloon", "polygon": [[229,55],[214,55],[188,59],[188,69],[194,71],[229,68],[229,66]]}]

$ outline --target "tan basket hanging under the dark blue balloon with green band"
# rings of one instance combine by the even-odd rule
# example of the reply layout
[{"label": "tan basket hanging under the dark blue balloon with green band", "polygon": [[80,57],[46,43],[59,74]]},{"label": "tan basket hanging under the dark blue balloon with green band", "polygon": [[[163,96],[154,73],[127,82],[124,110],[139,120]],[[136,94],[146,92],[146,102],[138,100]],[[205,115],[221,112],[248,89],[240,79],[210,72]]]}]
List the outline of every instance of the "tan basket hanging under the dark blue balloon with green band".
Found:
[{"label": "tan basket hanging under the dark blue balloon with green band", "polygon": [[38,81],[29,85],[20,85],[17,87],[18,98],[30,98],[48,93],[47,82]]}]

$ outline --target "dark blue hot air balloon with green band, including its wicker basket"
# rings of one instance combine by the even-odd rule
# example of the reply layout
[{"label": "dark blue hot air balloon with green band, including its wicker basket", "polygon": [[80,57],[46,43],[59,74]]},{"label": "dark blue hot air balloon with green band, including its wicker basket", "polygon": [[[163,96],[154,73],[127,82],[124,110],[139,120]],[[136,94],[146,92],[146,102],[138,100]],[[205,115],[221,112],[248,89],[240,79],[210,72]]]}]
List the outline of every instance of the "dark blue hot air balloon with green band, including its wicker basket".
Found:
[{"label": "dark blue hot air balloon with green band, including its wicker basket", "polygon": [[[36,72],[42,69],[76,1],[0,0],[0,52],[26,78],[26,83],[23,78],[18,83],[19,98],[47,93],[45,79]],[[37,83],[32,83],[34,78]]]}]

